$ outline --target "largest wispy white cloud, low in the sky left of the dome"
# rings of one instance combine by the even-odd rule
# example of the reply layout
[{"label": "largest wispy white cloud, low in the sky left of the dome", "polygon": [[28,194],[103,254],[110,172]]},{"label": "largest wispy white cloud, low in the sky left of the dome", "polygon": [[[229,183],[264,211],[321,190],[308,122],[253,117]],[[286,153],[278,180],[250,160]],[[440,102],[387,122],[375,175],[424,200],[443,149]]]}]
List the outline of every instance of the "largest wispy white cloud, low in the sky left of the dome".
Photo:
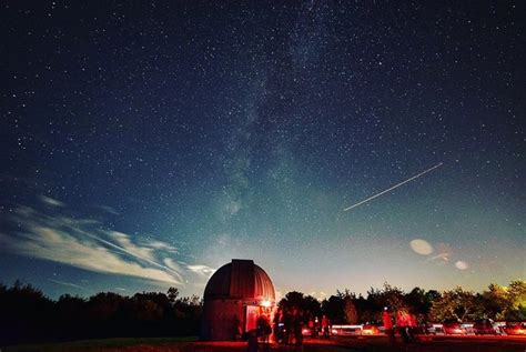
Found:
[{"label": "largest wispy white cloud, low in the sky left of the dome", "polygon": [[98,221],[22,205],[7,221],[11,230],[0,232],[0,248],[6,251],[95,272],[183,283],[175,266],[162,264],[163,249],[173,249],[168,243],[155,240],[148,245],[143,240],[138,244],[125,233],[102,230]]}]

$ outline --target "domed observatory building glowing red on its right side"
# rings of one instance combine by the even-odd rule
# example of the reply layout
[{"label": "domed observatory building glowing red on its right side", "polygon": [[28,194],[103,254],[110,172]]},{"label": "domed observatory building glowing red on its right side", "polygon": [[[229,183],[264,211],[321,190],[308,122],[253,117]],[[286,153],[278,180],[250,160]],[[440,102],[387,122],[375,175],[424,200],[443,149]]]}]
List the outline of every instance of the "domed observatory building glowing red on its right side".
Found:
[{"label": "domed observatory building glowing red on its right side", "polygon": [[256,328],[260,316],[272,319],[274,285],[252,260],[233,259],[210,278],[204,289],[201,339],[235,340]]}]

